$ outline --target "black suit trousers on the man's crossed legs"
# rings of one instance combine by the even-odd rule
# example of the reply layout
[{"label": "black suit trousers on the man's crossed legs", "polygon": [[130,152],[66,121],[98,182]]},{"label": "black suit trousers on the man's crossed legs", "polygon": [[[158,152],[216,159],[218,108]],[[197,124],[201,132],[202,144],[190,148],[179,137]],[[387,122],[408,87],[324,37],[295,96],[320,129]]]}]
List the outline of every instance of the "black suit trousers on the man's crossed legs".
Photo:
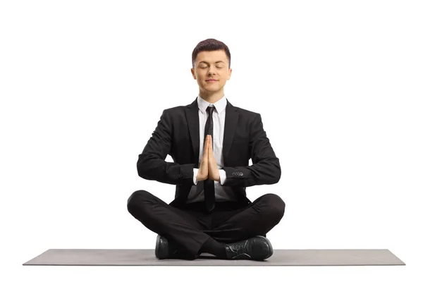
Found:
[{"label": "black suit trousers on the man's crossed legs", "polygon": [[204,202],[177,208],[150,192],[138,190],[128,199],[128,212],[195,258],[210,237],[222,243],[235,243],[266,235],[281,221],[285,202],[278,195],[266,194],[244,207],[237,202],[216,202],[212,212],[207,212]]}]

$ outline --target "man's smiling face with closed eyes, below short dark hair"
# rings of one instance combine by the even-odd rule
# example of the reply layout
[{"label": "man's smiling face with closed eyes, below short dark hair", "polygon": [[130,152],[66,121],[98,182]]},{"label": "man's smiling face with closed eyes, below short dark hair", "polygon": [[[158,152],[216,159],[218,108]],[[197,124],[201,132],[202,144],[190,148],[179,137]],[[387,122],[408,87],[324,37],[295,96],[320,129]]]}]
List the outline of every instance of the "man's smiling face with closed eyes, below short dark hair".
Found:
[{"label": "man's smiling face with closed eyes, below short dark hair", "polygon": [[[192,77],[197,80],[200,92],[207,94],[223,94],[226,80],[231,78],[232,68],[223,50],[201,51],[197,54],[194,68],[191,68]],[[215,80],[215,81],[212,81]]]}]

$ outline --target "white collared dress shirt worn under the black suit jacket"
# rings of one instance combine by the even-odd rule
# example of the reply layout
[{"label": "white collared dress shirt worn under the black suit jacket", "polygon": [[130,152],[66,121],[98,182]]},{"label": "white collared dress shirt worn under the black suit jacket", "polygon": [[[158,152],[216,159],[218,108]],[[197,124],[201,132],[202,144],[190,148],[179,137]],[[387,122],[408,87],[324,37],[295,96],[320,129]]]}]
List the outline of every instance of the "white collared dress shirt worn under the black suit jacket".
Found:
[{"label": "white collared dress shirt worn under the black suit jacket", "polygon": [[[200,121],[200,154],[198,156],[198,164],[200,166],[203,154],[203,147],[204,147],[204,127],[206,126],[207,122],[207,107],[209,105],[213,105],[216,110],[213,111],[212,118],[213,118],[213,154],[214,159],[216,159],[217,168],[219,169],[220,175],[220,183],[218,181],[214,181],[214,191],[215,191],[215,199],[216,202],[222,201],[236,201],[236,197],[233,194],[233,190],[231,187],[224,186],[226,180],[226,172],[221,169],[223,168],[223,131],[225,128],[225,116],[226,116],[226,104],[227,100],[226,97],[223,95],[219,101],[214,104],[210,104],[206,100],[202,99],[200,95],[197,97],[197,104],[198,104],[198,116]],[[194,176],[193,181],[194,185],[190,190],[190,194],[187,198],[187,203],[190,202],[204,202],[204,188],[203,183],[204,181],[200,181],[197,183],[197,173],[198,168],[194,168]]]}]

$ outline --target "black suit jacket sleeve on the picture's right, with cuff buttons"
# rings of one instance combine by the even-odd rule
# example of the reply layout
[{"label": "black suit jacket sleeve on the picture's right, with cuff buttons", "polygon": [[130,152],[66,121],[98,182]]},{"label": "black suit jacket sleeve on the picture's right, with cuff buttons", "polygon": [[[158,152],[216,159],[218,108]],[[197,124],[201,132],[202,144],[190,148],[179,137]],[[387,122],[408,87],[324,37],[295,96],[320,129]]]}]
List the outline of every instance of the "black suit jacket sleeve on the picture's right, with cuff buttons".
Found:
[{"label": "black suit jacket sleeve on the picture's right, with cuff buttons", "polygon": [[281,165],[263,129],[262,116],[257,114],[250,128],[251,166],[223,167],[225,186],[249,187],[270,185],[281,179]]}]

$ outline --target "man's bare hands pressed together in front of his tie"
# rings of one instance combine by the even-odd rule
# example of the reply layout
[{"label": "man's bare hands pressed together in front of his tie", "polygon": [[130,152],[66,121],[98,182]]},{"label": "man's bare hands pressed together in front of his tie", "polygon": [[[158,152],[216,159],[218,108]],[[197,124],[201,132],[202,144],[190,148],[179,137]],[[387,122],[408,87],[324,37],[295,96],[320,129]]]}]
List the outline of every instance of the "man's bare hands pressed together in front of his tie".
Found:
[{"label": "man's bare hands pressed together in front of his tie", "polygon": [[207,178],[220,182],[219,168],[217,168],[217,162],[214,159],[212,149],[212,135],[207,135],[206,137],[203,155],[197,173],[197,181],[206,180]]}]

